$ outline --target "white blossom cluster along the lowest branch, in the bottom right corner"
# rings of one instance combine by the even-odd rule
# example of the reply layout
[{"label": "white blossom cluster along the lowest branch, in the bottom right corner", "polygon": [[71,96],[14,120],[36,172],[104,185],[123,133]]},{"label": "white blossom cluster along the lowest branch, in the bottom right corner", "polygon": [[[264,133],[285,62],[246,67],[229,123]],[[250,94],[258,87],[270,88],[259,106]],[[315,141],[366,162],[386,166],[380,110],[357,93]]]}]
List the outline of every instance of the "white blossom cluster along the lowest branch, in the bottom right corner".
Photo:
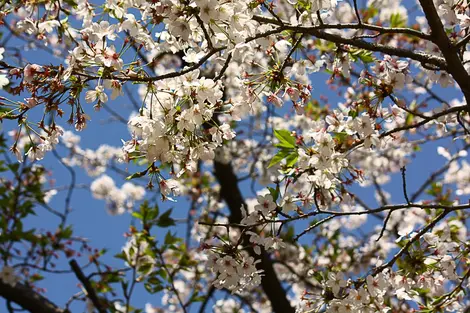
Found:
[{"label": "white blossom cluster along the lowest branch, in the bottom right corner", "polygon": [[[428,270],[411,278],[402,272],[390,269],[368,275],[360,287],[347,279],[344,273],[330,272],[323,278],[321,284],[324,290],[331,291],[334,299],[328,300],[326,294],[308,294],[305,299],[309,309],[325,308],[327,312],[388,312],[391,308],[384,302],[385,298],[393,293],[398,300],[417,301],[419,303],[419,290],[428,289],[436,298],[444,296],[446,309],[459,312],[465,306],[455,299],[446,299],[446,282],[459,279],[456,275],[456,260],[461,247],[450,239],[451,228],[459,229],[458,236],[466,236],[465,228],[457,222],[443,224],[432,233],[423,236],[424,264]],[[416,235],[416,234],[414,234]],[[413,234],[412,234],[413,236]],[[415,251],[418,253],[419,251]],[[377,262],[380,267],[382,262]],[[444,302],[445,303],[445,302]],[[302,312],[302,311],[301,311]]]}]

